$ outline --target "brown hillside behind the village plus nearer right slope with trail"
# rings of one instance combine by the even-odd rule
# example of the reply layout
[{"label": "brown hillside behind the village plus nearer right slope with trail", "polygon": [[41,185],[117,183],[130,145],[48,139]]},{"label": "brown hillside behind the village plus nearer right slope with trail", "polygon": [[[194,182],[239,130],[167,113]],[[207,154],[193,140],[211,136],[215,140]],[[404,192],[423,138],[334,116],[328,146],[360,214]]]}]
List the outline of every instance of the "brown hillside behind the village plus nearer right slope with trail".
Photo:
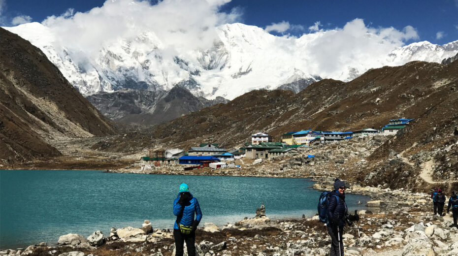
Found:
[{"label": "brown hillside behind the village plus nearer right slope with trail", "polygon": [[348,173],[348,179],[363,184],[386,183],[390,188],[458,189],[457,74],[458,62],[411,62],[371,69],[347,83],[324,79],[298,94],[252,91],[146,133],[131,133],[95,147],[131,151],[155,145],[186,148],[210,141],[231,148],[258,131],[279,141],[288,131],[381,128],[393,118],[415,118],[411,126],[361,158],[363,164],[347,166],[342,175]]}]

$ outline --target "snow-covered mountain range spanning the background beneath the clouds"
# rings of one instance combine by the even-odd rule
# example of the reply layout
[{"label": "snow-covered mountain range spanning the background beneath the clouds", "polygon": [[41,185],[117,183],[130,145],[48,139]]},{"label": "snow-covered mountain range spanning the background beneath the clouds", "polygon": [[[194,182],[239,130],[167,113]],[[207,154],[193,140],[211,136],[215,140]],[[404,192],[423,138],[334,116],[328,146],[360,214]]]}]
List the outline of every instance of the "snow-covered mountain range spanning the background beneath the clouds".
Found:
[{"label": "snow-covered mountain range spanning the background beneath the clouds", "polygon": [[[217,28],[209,49],[175,53],[153,31],[107,42],[95,55],[61,45],[40,23],[5,28],[39,47],[83,95],[123,88],[168,91],[175,85],[208,99],[233,99],[256,89],[302,90],[321,78],[349,81],[369,68],[410,61],[440,63],[458,52],[458,41],[444,45],[416,42],[369,58],[358,51],[347,60],[317,55],[325,32],[299,38],[274,36],[240,23]],[[370,35],[368,35],[370,36]],[[337,61],[338,62],[337,62]]]}]

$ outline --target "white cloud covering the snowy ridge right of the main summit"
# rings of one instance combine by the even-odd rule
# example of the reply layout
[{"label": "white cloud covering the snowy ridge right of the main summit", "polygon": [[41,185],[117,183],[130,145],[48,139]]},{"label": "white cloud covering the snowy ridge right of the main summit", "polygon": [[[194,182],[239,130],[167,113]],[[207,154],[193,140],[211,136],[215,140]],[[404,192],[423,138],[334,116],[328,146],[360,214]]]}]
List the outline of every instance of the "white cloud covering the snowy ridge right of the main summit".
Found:
[{"label": "white cloud covering the snowy ridge right of the main summit", "polygon": [[411,26],[401,31],[393,27],[371,28],[362,19],[350,21],[343,28],[302,37],[310,38],[307,52],[302,54],[312,62],[309,72],[337,79],[345,78],[342,74],[345,66],[359,70],[382,66],[387,63],[391,51],[403,46],[407,40],[419,38]]}]

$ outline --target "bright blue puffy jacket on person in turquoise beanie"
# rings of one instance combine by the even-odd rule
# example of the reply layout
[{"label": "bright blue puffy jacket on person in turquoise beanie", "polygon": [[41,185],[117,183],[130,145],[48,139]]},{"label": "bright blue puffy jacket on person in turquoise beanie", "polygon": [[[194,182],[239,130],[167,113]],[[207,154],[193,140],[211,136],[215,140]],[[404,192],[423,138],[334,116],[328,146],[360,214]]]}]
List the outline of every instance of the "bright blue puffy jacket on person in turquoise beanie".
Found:
[{"label": "bright blue puffy jacket on person in turquoise beanie", "polygon": [[194,212],[196,212],[196,221],[200,222],[202,219],[202,211],[200,211],[199,202],[196,197],[191,194],[189,200],[185,203],[185,206],[178,203],[179,199],[180,193],[178,193],[178,196],[173,201],[173,214],[176,216],[173,228],[179,229],[178,224],[192,226],[194,222]]}]

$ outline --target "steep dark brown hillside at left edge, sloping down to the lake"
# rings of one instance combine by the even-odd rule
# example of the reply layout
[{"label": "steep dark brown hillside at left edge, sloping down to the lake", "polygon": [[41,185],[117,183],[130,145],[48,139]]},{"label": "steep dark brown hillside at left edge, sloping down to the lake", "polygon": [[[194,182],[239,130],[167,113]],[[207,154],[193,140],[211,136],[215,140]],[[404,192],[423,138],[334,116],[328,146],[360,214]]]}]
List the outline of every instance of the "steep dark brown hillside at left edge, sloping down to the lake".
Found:
[{"label": "steep dark brown hillside at left edge, sloping down to the lake", "polygon": [[59,156],[52,140],[114,133],[41,50],[0,30],[0,164]]}]

